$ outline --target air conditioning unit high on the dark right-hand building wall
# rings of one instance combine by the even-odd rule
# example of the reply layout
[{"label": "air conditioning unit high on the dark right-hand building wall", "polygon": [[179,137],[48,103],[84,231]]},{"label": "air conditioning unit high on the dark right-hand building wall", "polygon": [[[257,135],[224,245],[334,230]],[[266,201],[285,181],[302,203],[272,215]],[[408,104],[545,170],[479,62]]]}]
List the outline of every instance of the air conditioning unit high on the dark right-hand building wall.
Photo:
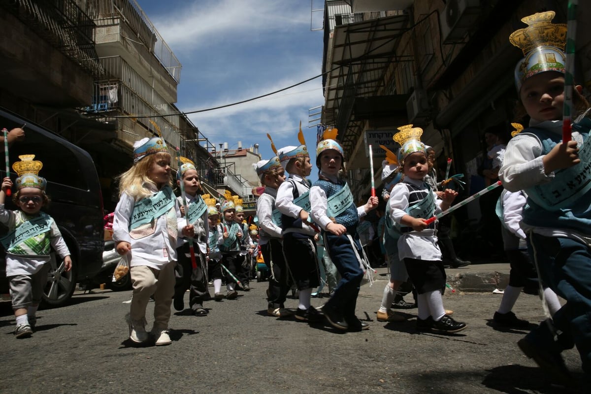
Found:
[{"label": "air conditioning unit high on the dark right-hand building wall", "polygon": [[444,44],[463,41],[480,15],[480,0],[447,0],[439,15]]}]

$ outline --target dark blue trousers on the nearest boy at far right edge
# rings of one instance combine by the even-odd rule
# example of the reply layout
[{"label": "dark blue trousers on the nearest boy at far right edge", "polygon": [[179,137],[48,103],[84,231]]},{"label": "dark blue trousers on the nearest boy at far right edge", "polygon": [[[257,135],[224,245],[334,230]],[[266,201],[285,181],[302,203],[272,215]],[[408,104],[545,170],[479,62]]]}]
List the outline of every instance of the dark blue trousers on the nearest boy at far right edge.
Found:
[{"label": "dark blue trousers on the nearest boy at far right edge", "polygon": [[[563,334],[548,346],[560,351],[574,342],[584,372],[591,374],[591,249],[573,239],[537,234],[532,234],[531,243],[542,281],[566,299],[553,317],[554,327]],[[543,337],[544,330],[536,328],[531,338]]]}]

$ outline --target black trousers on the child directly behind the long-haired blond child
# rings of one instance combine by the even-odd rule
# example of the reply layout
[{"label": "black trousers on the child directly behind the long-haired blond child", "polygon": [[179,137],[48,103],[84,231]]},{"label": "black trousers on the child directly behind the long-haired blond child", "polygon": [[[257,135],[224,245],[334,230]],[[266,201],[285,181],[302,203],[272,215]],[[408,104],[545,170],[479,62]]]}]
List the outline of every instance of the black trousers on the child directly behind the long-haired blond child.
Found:
[{"label": "black trousers on the child directly behind the long-haired blond child", "polygon": [[176,269],[176,282],[174,284],[174,298],[183,298],[187,289],[189,289],[189,307],[192,310],[203,308],[203,300],[207,297],[207,278],[203,272],[203,268],[207,265],[205,256],[200,252],[199,247],[194,245],[195,260],[197,268],[193,269],[191,264],[191,257],[189,254],[189,244],[185,243],[177,249],[178,261]]}]

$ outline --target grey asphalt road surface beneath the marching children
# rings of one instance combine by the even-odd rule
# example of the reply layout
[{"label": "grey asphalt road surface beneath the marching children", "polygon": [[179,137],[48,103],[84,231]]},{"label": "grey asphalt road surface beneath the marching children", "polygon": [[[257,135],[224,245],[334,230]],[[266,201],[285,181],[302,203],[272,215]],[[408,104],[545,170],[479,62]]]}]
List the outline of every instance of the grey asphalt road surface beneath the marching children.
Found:
[{"label": "grey asphalt road surface beneath the marching children", "polygon": [[[380,270],[381,273],[384,269]],[[206,317],[173,311],[173,344],[131,346],[124,316],[131,292],[95,290],[72,304],[38,312],[32,338],[14,338],[9,302],[0,302],[0,392],[9,393],[562,393],[550,386],[516,342],[526,332],[490,323],[501,295],[446,292],[445,307],[468,328],[454,336],[415,332],[375,320],[385,277],[362,286],[358,317],[371,329],[337,333],[266,314],[267,282],[232,301],[206,303]],[[187,293],[188,294],[188,293]],[[187,297],[188,298],[188,297]],[[187,299],[186,298],[186,299]],[[411,297],[407,296],[408,301]],[[322,305],[322,298],[313,305]],[[296,308],[296,299],[288,299]],[[153,302],[148,304],[151,327]],[[537,297],[522,294],[514,311],[537,322]],[[576,350],[564,353],[580,379]]]}]

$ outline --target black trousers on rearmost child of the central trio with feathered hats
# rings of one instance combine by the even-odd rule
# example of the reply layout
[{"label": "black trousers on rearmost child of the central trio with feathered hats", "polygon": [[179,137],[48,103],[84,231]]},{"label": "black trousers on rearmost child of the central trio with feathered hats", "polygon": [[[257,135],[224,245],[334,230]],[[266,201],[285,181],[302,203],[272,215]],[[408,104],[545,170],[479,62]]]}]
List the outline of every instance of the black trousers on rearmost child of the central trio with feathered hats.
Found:
[{"label": "black trousers on rearmost child of the central trio with feathered hats", "polygon": [[[283,246],[277,238],[271,238],[265,245],[261,245],[262,258],[272,273],[269,276],[268,308],[284,308],[285,298],[291,285],[288,284],[289,273],[283,256]],[[272,266],[271,266],[272,262]]]}]

